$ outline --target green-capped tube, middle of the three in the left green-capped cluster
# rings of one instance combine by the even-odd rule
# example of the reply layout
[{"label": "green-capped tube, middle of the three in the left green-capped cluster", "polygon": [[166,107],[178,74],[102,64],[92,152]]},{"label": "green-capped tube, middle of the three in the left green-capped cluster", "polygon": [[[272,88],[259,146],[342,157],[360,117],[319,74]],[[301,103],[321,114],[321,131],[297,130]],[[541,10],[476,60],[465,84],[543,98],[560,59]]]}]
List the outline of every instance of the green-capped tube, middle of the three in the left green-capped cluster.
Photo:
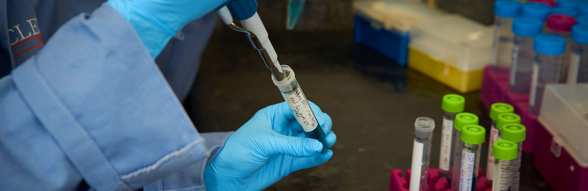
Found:
[{"label": "green-capped tube, middle of the three in the left green-capped cluster", "polygon": [[459,176],[462,169],[462,149],[463,149],[463,141],[462,137],[462,129],[465,125],[477,125],[478,124],[478,117],[475,114],[469,112],[460,112],[459,114],[455,115],[455,123],[453,124],[453,134],[454,137],[453,141],[451,142],[451,155],[453,156],[453,165],[451,166],[451,179],[448,180],[450,182],[450,187],[452,191],[459,190]]}]

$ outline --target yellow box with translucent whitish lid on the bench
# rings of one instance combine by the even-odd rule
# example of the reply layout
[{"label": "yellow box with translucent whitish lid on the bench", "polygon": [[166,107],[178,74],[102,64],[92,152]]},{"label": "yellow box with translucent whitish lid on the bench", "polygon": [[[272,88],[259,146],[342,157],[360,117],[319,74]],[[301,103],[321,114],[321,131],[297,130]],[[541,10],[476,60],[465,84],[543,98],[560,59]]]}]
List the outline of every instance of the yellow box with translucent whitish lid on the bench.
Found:
[{"label": "yellow box with translucent whitish lid on the bench", "polygon": [[492,56],[493,28],[460,15],[412,26],[409,67],[462,93],[478,90]]}]

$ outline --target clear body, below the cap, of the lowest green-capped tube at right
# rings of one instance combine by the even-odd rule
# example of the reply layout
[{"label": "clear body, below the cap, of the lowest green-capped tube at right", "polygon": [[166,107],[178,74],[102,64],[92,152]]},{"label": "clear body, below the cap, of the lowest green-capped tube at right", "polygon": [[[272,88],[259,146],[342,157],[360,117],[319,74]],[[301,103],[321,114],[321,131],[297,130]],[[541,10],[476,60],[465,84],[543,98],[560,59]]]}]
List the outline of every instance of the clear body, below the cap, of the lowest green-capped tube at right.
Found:
[{"label": "clear body, below the cap, of the lowest green-capped tube at right", "polygon": [[494,162],[494,182],[492,191],[511,191],[513,160],[496,159]]}]

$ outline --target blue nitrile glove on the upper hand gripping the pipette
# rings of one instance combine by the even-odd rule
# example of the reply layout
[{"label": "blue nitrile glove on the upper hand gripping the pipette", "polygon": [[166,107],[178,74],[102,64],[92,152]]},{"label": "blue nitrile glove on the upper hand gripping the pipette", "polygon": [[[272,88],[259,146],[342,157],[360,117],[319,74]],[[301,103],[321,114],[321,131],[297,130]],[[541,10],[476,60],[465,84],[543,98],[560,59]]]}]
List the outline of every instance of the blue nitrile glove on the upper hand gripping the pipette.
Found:
[{"label": "blue nitrile glove on the upper hand gripping the pipette", "polygon": [[108,0],[135,28],[153,58],[180,29],[231,0]]}]

